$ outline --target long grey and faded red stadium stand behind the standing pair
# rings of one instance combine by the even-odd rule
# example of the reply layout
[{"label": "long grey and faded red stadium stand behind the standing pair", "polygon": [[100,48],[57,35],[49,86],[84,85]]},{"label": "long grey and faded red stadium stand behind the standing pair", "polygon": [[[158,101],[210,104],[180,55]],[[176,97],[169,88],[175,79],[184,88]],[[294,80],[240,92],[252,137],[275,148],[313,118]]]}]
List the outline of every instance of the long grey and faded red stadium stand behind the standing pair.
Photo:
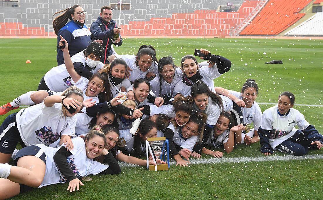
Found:
[{"label": "long grey and faded red stadium stand behind the standing pair", "polygon": [[[117,2],[117,1],[116,1]],[[215,36],[232,30],[256,15],[259,4],[266,0],[234,1],[234,12],[220,8],[232,0],[124,0],[130,10],[122,10],[121,34],[124,36]],[[0,6],[0,36],[54,36],[52,16],[72,5],[81,5],[88,12],[86,24],[99,16],[99,8],[112,5],[110,0],[21,0],[19,7]],[[222,6],[222,7],[221,7]],[[117,7],[115,7],[117,8]],[[118,10],[114,10],[114,19]],[[118,22],[118,19],[116,19]]]}]

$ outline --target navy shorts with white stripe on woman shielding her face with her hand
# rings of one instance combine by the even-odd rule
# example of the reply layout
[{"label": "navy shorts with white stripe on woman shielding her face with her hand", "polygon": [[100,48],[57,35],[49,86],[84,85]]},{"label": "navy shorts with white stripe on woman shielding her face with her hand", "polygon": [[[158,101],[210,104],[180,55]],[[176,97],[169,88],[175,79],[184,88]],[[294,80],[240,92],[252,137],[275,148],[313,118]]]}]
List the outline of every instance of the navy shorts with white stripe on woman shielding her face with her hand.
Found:
[{"label": "navy shorts with white stripe on woman shielding her face with her hand", "polygon": [[17,128],[16,114],[11,114],[5,118],[0,126],[0,153],[11,154],[16,149],[18,142],[22,147],[26,147],[25,143],[20,137]]}]

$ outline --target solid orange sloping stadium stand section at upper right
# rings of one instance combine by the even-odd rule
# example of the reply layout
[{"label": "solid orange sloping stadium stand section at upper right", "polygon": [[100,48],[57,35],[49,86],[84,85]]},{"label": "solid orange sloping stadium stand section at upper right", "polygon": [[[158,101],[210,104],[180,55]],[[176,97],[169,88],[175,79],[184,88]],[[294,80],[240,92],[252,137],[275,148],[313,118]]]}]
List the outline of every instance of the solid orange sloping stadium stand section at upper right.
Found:
[{"label": "solid orange sloping stadium stand section at upper right", "polygon": [[299,11],[311,2],[311,0],[269,0],[239,35],[277,35],[303,17],[305,14]]}]

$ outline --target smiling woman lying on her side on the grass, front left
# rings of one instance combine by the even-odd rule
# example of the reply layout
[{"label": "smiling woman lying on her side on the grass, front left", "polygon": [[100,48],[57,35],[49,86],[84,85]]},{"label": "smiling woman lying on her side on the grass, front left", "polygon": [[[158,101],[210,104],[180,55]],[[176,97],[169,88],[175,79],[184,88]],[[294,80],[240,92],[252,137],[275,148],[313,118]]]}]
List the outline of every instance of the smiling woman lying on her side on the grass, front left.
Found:
[{"label": "smiling woman lying on her side on the grass, front left", "polygon": [[[25,147],[16,154],[15,165],[0,164],[0,199],[13,197],[31,190],[55,183],[69,182],[67,190],[79,190],[83,183],[79,178],[89,174],[118,174],[118,162],[104,147],[106,137],[95,126],[85,139],[73,138],[74,149],[68,151],[43,144]],[[103,155],[109,165],[93,161]]]}]

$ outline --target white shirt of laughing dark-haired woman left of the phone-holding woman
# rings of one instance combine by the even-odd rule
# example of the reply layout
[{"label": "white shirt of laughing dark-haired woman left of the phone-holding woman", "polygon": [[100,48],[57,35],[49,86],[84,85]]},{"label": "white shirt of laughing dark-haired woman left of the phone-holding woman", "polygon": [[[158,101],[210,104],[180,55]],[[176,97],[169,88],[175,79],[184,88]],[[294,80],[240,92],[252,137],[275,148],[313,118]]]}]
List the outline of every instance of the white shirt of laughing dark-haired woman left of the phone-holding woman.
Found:
[{"label": "white shirt of laughing dark-haired woman left of the phone-holding woman", "polygon": [[156,74],[156,77],[149,82],[150,89],[157,97],[159,97],[160,85],[161,85],[161,92],[160,92],[161,95],[167,95],[168,97],[172,97],[174,87],[176,83],[182,80],[182,77],[183,77],[183,71],[179,67],[176,67],[172,83],[167,83],[163,78],[161,79],[161,83],[160,83],[160,77],[158,72],[158,74]]}]

